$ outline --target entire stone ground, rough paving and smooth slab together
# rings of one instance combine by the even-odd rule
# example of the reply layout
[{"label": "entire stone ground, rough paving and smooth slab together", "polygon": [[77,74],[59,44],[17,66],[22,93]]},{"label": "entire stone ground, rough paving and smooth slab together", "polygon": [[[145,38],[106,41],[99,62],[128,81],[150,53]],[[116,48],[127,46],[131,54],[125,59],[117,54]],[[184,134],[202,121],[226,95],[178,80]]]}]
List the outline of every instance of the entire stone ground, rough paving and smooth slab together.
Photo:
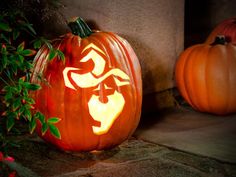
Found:
[{"label": "entire stone ground, rough paving and smooth slab together", "polygon": [[171,108],[144,115],[114,149],[66,153],[33,136],[8,165],[22,177],[236,177],[235,140],[236,115]]}]

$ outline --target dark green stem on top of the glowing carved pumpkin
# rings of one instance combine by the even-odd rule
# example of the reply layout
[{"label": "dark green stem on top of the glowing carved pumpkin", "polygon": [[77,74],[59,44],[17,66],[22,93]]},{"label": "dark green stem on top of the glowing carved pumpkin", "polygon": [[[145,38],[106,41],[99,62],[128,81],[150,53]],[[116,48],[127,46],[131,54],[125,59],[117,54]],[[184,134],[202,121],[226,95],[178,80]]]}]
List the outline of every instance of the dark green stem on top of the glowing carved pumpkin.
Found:
[{"label": "dark green stem on top of the glowing carved pumpkin", "polygon": [[81,17],[75,17],[69,21],[68,26],[74,35],[81,38],[90,36],[93,32]]}]

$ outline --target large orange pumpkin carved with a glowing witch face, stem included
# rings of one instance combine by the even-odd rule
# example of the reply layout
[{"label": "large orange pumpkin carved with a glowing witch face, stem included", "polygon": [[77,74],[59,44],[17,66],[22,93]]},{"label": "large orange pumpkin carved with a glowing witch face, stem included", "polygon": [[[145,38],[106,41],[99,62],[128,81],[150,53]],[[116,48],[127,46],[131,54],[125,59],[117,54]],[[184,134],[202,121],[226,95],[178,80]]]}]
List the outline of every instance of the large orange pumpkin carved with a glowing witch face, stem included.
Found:
[{"label": "large orange pumpkin carved with a glowing witch face, stem included", "polygon": [[[49,132],[46,141],[63,150],[90,151],[116,146],[132,135],[141,113],[142,81],[137,56],[130,44],[111,32],[92,32],[77,18],[72,33],[54,41],[65,55],[48,61],[42,47],[35,58],[32,82],[35,108],[46,118],[58,117],[61,139]],[[46,82],[38,79],[41,75]]]}]

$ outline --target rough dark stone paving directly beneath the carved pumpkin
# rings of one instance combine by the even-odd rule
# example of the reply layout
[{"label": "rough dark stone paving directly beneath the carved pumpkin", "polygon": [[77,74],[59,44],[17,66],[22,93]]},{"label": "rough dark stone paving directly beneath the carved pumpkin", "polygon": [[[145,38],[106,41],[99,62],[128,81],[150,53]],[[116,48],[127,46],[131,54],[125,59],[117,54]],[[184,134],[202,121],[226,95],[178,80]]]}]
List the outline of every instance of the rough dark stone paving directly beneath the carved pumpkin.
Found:
[{"label": "rough dark stone paving directly beneath the carved pumpkin", "polygon": [[82,153],[62,152],[38,139],[20,144],[9,165],[21,177],[236,177],[236,164],[135,138],[111,150]]}]

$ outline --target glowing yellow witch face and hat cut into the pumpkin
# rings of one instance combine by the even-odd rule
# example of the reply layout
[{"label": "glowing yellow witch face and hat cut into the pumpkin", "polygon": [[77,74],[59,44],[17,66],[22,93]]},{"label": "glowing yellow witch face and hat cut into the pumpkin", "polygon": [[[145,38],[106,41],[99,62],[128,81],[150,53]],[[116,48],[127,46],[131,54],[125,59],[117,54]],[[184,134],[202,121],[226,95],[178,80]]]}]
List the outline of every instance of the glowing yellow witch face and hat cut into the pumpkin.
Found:
[{"label": "glowing yellow witch face and hat cut into the pumpkin", "polygon": [[[66,67],[63,70],[63,77],[66,87],[76,90],[76,88],[70,82],[70,79],[72,79],[74,83],[80,88],[95,87],[99,86],[101,82],[103,82],[110,76],[114,78],[116,85],[119,87],[130,84],[129,76],[118,68],[111,68],[108,72],[103,73],[106,66],[106,60],[97,51],[104,55],[105,53],[96,45],[94,45],[93,43],[87,45],[83,49],[82,53],[86,50],[90,51],[80,60],[80,62],[87,62],[89,60],[92,60],[94,63],[94,68],[91,72],[79,74],[76,73],[76,71],[81,70],[80,68]],[[70,74],[68,74],[69,72]],[[94,75],[101,76],[94,77]],[[70,79],[68,77],[70,77]],[[105,85],[105,89],[106,88],[109,89]],[[99,89],[99,87],[97,89]],[[115,90],[113,94],[108,95],[107,100],[108,101],[106,103],[103,103],[99,100],[99,96],[92,95],[92,97],[88,101],[89,114],[94,120],[100,122],[100,126],[92,126],[93,133],[96,135],[105,134],[109,131],[112,124],[118,118],[125,105],[125,99],[123,95],[117,90]]]}]

